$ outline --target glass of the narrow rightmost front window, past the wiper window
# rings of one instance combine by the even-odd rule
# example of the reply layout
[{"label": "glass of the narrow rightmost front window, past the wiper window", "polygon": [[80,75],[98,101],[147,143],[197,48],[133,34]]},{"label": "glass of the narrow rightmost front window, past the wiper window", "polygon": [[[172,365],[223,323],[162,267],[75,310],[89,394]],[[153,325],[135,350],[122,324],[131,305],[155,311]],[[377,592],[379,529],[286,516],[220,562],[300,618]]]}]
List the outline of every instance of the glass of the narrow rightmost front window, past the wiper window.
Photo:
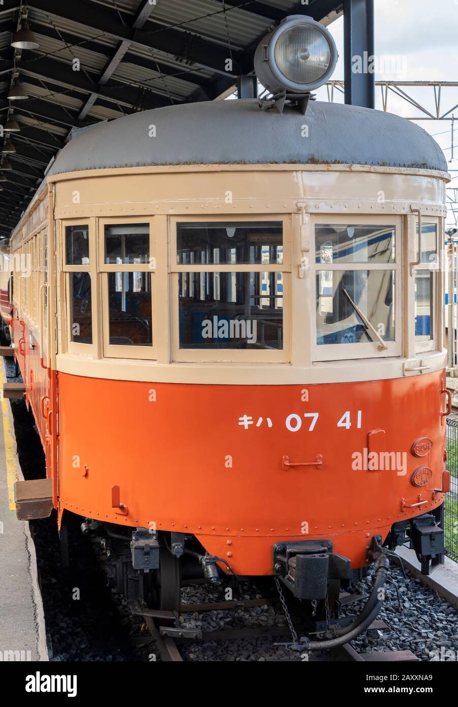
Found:
[{"label": "glass of the narrow rightmost front window, past the wiper window", "polygon": [[[416,226],[416,260],[418,260],[418,224]],[[435,349],[436,280],[439,268],[438,228],[435,223],[421,227],[421,262],[414,270],[415,345],[416,351]]]}]

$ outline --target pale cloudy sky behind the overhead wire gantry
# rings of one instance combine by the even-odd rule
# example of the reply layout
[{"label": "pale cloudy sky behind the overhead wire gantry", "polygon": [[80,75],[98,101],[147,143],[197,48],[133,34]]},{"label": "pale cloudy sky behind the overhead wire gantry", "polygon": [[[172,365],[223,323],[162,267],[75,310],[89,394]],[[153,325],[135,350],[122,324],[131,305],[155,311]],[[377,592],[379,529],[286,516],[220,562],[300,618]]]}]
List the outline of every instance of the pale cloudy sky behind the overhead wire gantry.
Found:
[{"label": "pale cloudy sky behind the overhead wire gantry", "polygon": [[[339,18],[331,23],[328,29],[339,51],[339,61],[331,78],[343,79],[344,19]],[[376,81],[391,79],[458,82],[458,0],[375,0],[375,57],[379,62],[377,68],[381,70],[381,73],[375,72]],[[404,87],[402,90],[435,115],[432,87]],[[317,100],[327,100],[325,87],[320,88],[316,93]],[[389,112],[404,117],[421,115],[415,107],[398,98],[394,93],[390,92],[390,94],[387,106]],[[338,95],[334,100],[343,102],[343,96]],[[442,114],[457,104],[458,87],[442,88]],[[382,110],[380,87],[376,88],[376,107]],[[458,107],[454,110],[454,115],[456,118],[454,160],[449,163],[450,175],[454,179],[448,186],[458,189]],[[416,122],[434,136],[448,162],[452,156],[452,122],[445,120]],[[458,205],[455,209],[458,211]],[[447,224],[454,225],[452,214],[449,214]]]}]

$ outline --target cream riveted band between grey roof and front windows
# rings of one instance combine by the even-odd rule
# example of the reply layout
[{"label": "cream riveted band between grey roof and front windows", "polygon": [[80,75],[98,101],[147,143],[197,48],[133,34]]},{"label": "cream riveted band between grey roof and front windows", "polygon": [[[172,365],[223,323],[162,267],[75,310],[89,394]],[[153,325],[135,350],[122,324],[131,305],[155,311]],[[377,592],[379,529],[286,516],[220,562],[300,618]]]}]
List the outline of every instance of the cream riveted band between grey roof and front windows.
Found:
[{"label": "cream riveted band between grey roof and front windows", "polygon": [[49,177],[54,218],[290,214],[445,216],[445,172],[365,165],[195,165],[90,170]]}]

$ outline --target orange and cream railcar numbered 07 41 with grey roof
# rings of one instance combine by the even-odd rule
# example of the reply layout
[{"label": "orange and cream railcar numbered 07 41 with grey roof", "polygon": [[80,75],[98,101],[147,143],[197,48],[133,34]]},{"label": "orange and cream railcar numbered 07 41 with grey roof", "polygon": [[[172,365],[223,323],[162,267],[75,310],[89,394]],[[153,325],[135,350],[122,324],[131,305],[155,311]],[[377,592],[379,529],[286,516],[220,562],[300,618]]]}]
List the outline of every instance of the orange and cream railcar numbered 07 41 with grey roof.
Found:
[{"label": "orange and cream railcar numbered 07 41 with grey roof", "polygon": [[[105,538],[131,602],[275,578],[321,621],[377,614],[387,556],[444,552],[445,158],[420,127],[318,103],[336,50],[288,18],[268,100],[76,134],[11,237],[11,328],[47,457],[20,518]],[[28,493],[30,489],[30,493]],[[339,590],[376,565],[348,626]],[[317,624],[315,633],[317,631]]]}]

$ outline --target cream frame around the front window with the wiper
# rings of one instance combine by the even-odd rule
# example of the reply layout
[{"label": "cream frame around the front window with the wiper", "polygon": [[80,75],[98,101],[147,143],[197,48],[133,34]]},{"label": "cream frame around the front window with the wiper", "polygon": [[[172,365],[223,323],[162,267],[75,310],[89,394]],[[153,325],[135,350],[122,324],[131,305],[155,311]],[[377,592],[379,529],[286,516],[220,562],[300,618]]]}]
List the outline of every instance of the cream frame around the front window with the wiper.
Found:
[{"label": "cream frame around the front window with the wiper", "polygon": [[[394,226],[394,262],[374,263],[332,263],[324,264],[315,262],[316,259],[316,234],[315,227],[320,225],[330,226]],[[360,358],[388,358],[402,356],[403,352],[403,264],[402,264],[402,217],[397,214],[375,216],[372,214],[315,214],[310,218],[311,246],[310,246],[310,276],[313,279],[310,334],[312,363],[322,361],[353,361]],[[320,267],[321,266],[321,267]],[[357,271],[357,270],[392,270],[394,271],[394,341],[387,341],[387,349],[380,351],[377,341],[368,341],[363,344],[317,344],[317,273],[321,271]],[[373,322],[372,322],[373,323]]]}]

